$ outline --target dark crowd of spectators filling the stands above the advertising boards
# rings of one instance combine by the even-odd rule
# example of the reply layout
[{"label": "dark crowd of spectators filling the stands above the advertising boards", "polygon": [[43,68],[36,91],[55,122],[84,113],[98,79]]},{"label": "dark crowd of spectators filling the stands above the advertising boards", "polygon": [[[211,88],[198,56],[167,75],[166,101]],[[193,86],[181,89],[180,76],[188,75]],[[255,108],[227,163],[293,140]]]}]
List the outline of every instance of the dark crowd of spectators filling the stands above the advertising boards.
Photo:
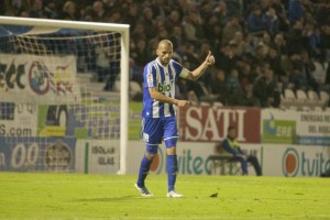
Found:
[{"label": "dark crowd of spectators filling the stands above the advertising boards", "polygon": [[[131,79],[155,58],[160,40],[193,70],[208,52],[216,64],[198,81],[179,79],[177,98],[278,108],[290,89],[330,90],[329,0],[4,0],[9,16],[130,24]],[[112,88],[107,88],[111,90]]]}]

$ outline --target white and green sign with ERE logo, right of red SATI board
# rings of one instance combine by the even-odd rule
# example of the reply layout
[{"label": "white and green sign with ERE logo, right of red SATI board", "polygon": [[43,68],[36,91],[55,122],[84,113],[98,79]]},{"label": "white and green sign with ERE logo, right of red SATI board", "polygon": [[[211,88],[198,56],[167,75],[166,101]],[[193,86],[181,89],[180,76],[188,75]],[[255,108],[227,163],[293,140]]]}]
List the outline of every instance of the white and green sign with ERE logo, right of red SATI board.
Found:
[{"label": "white and green sign with ERE logo, right of red SATI board", "polygon": [[330,112],[262,110],[262,142],[330,146]]}]

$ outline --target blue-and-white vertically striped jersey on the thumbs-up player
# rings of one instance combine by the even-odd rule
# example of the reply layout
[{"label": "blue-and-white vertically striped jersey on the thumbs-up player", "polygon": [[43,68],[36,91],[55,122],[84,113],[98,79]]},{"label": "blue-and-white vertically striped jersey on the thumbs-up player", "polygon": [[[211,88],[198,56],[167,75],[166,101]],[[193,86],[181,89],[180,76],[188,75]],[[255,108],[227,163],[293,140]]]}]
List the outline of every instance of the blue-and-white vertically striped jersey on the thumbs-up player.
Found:
[{"label": "blue-and-white vertically striped jersey on the thumbs-up player", "polygon": [[145,65],[143,70],[143,111],[145,118],[174,117],[174,105],[164,103],[151,98],[148,88],[156,87],[163,95],[175,98],[175,82],[180,75],[183,66],[170,59],[163,66],[158,58]]}]

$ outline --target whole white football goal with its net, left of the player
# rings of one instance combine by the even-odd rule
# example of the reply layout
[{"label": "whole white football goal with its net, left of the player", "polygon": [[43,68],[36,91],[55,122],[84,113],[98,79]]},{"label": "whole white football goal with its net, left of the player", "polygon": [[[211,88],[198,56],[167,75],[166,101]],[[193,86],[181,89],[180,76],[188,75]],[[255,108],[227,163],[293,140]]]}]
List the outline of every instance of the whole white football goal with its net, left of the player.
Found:
[{"label": "whole white football goal with its net, left of the player", "polygon": [[125,173],[128,35],[0,16],[0,170]]}]

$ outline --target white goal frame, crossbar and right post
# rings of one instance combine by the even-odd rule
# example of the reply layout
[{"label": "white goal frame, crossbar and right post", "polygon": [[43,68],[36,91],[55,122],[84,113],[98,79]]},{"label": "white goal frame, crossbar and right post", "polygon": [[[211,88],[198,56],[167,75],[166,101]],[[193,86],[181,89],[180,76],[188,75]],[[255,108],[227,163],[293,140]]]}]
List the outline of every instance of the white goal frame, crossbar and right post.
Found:
[{"label": "white goal frame, crossbar and right post", "polygon": [[[128,130],[129,130],[129,121],[128,121],[128,109],[129,109],[129,32],[130,32],[130,25],[129,24],[113,24],[113,23],[98,23],[98,22],[80,22],[80,21],[64,21],[64,20],[50,20],[50,19],[30,19],[30,18],[14,18],[14,16],[0,16],[0,25],[14,25],[14,26],[25,26],[30,28],[30,30],[26,33],[12,33],[11,31],[4,30],[0,26],[0,34],[7,33],[7,35],[10,37],[11,35],[43,35],[43,34],[53,34],[57,32],[58,30],[64,30],[64,32],[69,33],[70,30],[77,30],[77,31],[90,31],[95,33],[103,34],[106,32],[112,32],[112,33],[119,33],[120,34],[120,44],[118,45],[118,48],[120,46],[120,50],[118,52],[119,59],[120,59],[120,165],[119,165],[119,172],[118,174],[125,174],[127,173],[127,147],[128,147]],[[116,35],[117,36],[117,35]],[[51,35],[52,37],[52,35]],[[65,37],[65,36],[64,36]],[[85,37],[82,35],[81,37]],[[100,38],[102,36],[100,35]],[[107,36],[108,37],[108,36]],[[109,37],[114,37],[114,35],[109,35]],[[96,37],[95,37],[96,38]],[[25,40],[24,40],[25,41]],[[29,40],[30,41],[30,40]],[[47,40],[45,40],[46,42]],[[87,40],[87,41],[96,41],[94,38]],[[29,47],[29,50],[34,50],[38,46],[30,45],[33,44],[33,38],[30,42],[23,42],[24,43],[24,50]],[[19,42],[19,46],[22,42]],[[110,43],[103,43],[108,44],[108,46],[111,46]],[[15,45],[15,46],[18,46]],[[18,47],[19,47],[18,46]],[[52,47],[53,45],[50,45],[48,47]],[[109,46],[109,47],[110,47]],[[47,47],[47,48],[48,48]],[[53,46],[54,48],[56,46]],[[86,45],[88,47],[88,45]],[[15,48],[18,51],[18,48]],[[22,50],[22,48],[19,48]],[[56,47],[57,50],[57,47]],[[20,51],[21,52],[21,51]],[[19,52],[19,53],[20,53]],[[3,53],[3,51],[0,53]],[[25,52],[26,53],[26,52]],[[44,50],[42,53],[46,54],[46,50]],[[34,55],[40,55],[35,54]],[[76,57],[74,57],[75,59]],[[82,62],[84,63],[84,62]],[[90,66],[86,68],[92,68]],[[55,77],[56,78],[56,77]],[[58,85],[57,85],[58,86]],[[1,89],[1,88],[0,88]],[[0,98],[2,99],[6,96],[6,94],[0,92]],[[24,98],[23,98],[24,99]],[[24,100],[21,100],[24,102]],[[4,99],[6,100],[6,99]],[[3,101],[3,99],[2,99]],[[16,102],[20,102],[20,97],[15,99]]]}]

